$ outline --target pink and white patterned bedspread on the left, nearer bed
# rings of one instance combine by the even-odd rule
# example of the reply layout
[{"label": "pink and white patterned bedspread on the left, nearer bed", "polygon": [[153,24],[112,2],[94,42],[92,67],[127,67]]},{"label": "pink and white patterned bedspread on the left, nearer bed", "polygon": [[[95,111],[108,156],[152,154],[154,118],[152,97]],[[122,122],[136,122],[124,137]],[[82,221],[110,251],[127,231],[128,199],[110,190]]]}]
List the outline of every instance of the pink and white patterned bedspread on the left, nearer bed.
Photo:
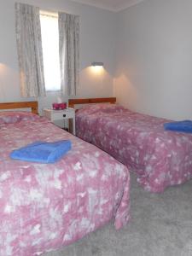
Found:
[{"label": "pink and white patterned bedspread on the left, nearer bed", "polygon": [[[31,256],[67,245],[114,218],[129,220],[127,168],[38,116],[0,116],[0,255]],[[70,139],[55,164],[10,160],[28,143]]]}]

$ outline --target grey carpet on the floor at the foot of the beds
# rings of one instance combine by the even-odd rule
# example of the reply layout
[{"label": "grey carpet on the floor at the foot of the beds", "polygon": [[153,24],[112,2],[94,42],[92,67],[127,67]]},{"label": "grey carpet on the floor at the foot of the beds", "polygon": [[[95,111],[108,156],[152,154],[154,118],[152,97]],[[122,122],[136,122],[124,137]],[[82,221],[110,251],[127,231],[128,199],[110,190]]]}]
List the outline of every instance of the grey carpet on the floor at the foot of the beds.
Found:
[{"label": "grey carpet on the floor at the foot of the beds", "polygon": [[44,256],[192,256],[192,181],[163,194],[144,191],[131,174],[131,221],[113,223]]}]

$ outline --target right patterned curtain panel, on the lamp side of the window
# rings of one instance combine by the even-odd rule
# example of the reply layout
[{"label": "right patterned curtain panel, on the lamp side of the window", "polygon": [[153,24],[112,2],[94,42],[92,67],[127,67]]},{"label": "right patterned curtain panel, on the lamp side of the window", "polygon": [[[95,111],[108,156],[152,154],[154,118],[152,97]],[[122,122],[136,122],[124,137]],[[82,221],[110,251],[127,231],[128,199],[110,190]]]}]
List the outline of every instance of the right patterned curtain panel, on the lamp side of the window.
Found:
[{"label": "right patterned curtain panel, on the lamp side of the window", "polygon": [[79,16],[59,13],[61,90],[64,95],[79,94]]}]

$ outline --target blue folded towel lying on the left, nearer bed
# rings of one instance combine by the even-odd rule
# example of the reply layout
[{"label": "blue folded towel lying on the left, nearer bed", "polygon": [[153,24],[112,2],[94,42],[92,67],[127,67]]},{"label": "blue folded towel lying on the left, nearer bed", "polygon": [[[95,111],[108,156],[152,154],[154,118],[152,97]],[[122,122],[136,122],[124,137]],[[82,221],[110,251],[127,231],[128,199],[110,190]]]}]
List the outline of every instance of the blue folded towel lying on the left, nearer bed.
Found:
[{"label": "blue folded towel lying on the left, nearer bed", "polygon": [[16,160],[26,160],[39,163],[55,163],[72,148],[72,143],[67,140],[55,143],[35,142],[26,147],[11,152],[10,157]]}]

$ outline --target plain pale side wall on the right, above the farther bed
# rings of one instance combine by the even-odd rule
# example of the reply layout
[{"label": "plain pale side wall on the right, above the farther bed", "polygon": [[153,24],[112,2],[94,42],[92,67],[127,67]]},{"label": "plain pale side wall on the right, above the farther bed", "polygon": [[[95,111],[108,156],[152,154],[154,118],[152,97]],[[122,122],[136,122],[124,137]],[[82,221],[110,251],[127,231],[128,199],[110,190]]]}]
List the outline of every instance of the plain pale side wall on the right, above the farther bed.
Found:
[{"label": "plain pale side wall on the right, above the farther bed", "polygon": [[125,107],[192,119],[191,10],[191,0],[144,0],[119,12],[114,91]]}]

